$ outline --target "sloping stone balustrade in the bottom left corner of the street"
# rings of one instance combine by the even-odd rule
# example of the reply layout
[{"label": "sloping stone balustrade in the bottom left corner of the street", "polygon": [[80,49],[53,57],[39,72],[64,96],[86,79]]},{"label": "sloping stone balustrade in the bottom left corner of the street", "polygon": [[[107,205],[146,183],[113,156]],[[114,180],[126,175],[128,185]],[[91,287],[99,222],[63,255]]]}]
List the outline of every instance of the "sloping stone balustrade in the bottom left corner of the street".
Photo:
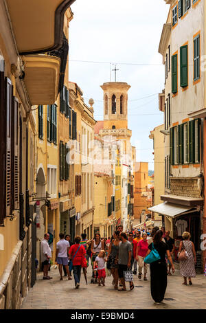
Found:
[{"label": "sloping stone balustrade in the bottom left corner of the street", "polygon": [[25,228],[0,277],[0,309],[20,309],[32,278],[32,225]]}]

